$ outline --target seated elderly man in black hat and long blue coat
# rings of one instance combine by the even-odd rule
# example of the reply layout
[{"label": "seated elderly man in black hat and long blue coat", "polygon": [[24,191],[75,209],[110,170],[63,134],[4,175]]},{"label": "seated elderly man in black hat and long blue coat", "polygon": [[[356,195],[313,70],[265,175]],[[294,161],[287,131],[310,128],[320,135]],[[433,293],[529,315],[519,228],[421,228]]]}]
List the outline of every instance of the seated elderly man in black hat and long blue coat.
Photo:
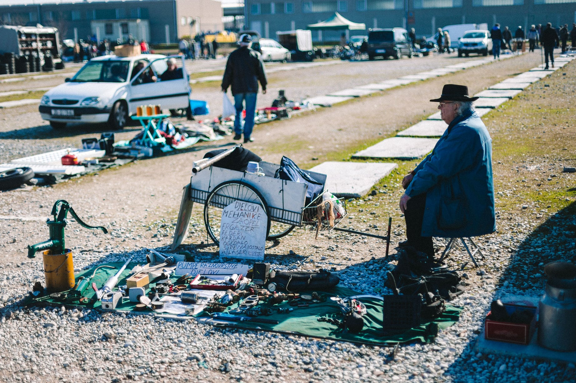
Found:
[{"label": "seated elderly man in black hat and long blue coat", "polygon": [[434,259],[432,237],[460,238],[496,230],[492,139],[476,114],[468,87],[448,84],[438,109],[448,128],[434,150],[402,180],[400,210],[407,241]]}]

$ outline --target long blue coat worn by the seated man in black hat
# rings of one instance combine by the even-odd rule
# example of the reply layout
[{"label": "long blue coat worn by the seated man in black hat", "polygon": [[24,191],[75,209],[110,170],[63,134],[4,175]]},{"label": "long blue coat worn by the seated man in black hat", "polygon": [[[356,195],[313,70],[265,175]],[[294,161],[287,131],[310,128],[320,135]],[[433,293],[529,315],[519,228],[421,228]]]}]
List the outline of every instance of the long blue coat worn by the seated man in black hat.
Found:
[{"label": "long blue coat worn by the seated man in black hat", "polygon": [[492,139],[475,112],[454,118],[406,189],[426,193],[422,236],[473,237],[496,230]]}]

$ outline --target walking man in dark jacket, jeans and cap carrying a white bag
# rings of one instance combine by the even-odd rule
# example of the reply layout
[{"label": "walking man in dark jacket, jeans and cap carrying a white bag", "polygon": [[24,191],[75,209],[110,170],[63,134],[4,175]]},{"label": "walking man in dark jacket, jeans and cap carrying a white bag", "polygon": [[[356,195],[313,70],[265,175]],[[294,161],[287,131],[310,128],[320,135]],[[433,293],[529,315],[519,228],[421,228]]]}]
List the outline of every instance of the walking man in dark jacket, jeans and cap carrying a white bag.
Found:
[{"label": "walking man in dark jacket, jeans and cap carrying a white bag", "polygon": [[[262,85],[262,93],[266,93],[266,72],[260,53],[250,48],[252,37],[244,34],[240,36],[240,48],[230,53],[226,70],[222,78],[222,91],[226,93],[232,86],[236,118],[234,118],[234,140],[240,140],[244,131],[244,143],[252,142],[252,128],[254,127],[254,114],[256,112],[256,94],[258,81]],[[246,102],[246,117],[242,129],[243,102]]]}]

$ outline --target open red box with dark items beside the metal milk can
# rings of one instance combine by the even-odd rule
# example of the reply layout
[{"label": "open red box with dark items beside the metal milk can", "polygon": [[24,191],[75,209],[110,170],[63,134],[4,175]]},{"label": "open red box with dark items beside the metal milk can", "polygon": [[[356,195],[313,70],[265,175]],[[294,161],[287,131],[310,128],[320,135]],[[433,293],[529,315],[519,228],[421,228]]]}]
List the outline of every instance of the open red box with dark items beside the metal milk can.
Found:
[{"label": "open red box with dark items beside the metal milk can", "polygon": [[511,323],[488,319],[492,312],[488,312],[484,322],[484,338],[488,340],[499,340],[500,342],[529,344],[532,335],[536,330],[536,307],[504,304],[508,315],[512,315],[517,310],[528,310],[532,313],[530,323]]}]

